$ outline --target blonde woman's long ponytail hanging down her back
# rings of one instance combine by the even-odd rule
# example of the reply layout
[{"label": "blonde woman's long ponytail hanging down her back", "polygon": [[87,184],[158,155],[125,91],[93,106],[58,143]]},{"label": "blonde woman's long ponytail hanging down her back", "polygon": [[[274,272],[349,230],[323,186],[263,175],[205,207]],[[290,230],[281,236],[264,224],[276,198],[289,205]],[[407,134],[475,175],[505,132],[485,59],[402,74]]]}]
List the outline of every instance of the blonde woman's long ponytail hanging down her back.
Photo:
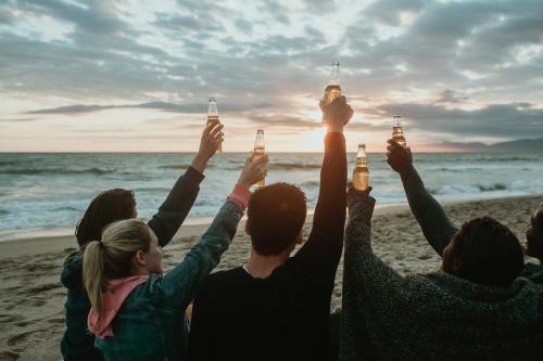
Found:
[{"label": "blonde woman's long ponytail hanging down her back", "polygon": [[102,244],[92,241],[87,244],[83,258],[83,281],[89,295],[90,305],[98,315],[97,326],[102,324],[104,314],[103,292],[105,289],[105,279],[103,273]]}]

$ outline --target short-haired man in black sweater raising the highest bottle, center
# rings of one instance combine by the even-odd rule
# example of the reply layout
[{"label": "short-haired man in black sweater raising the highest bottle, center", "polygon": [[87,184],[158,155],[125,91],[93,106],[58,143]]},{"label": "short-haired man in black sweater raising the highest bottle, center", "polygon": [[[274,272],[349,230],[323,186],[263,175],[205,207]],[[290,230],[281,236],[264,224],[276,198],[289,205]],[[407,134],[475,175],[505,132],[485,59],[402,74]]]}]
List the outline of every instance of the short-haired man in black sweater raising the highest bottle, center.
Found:
[{"label": "short-haired man in black sweater raising the highest bottle, center", "polygon": [[245,231],[249,261],[207,278],[194,299],[191,360],[326,360],[328,319],[345,220],[344,98],[332,102],[320,190],[307,242],[304,194],[275,183],[254,192]]}]

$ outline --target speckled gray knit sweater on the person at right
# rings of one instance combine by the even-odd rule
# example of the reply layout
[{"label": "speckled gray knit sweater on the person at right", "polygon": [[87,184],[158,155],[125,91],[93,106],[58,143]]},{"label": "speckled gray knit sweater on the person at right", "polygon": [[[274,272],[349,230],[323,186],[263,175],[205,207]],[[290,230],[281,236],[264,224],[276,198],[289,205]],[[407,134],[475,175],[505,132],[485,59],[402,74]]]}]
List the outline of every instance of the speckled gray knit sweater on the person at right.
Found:
[{"label": "speckled gray knit sweater on the person at right", "polygon": [[402,278],[371,250],[375,199],[348,205],[340,360],[543,360],[542,286]]}]

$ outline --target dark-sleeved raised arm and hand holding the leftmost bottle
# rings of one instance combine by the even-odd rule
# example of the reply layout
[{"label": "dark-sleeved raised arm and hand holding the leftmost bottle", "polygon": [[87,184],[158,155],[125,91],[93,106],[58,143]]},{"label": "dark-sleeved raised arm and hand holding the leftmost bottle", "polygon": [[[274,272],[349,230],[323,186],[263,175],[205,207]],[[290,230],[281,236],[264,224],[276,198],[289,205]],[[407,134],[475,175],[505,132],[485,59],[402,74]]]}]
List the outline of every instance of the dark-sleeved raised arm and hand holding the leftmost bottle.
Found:
[{"label": "dark-sleeved raised arm and hand holding the leftmost bottle", "polygon": [[205,127],[200,141],[200,149],[185,175],[179,177],[159,211],[149,221],[149,227],[164,247],[172,241],[175,233],[189,214],[204,179],[203,172],[210,158],[217,151],[223,140],[223,126],[212,123]]}]

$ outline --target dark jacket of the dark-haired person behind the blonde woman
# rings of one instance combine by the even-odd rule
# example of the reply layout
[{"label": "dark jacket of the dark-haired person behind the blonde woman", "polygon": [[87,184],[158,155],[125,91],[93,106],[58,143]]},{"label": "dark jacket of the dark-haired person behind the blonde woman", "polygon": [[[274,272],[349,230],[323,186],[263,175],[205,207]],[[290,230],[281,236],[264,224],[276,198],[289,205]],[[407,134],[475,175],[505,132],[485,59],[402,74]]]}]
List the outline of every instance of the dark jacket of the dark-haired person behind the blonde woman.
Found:
[{"label": "dark jacket of the dark-haired person behind the blonde woman", "polygon": [[[185,175],[179,177],[159,211],[149,221],[148,224],[156,234],[161,246],[168,244],[187,218],[203,178],[202,173],[189,167]],[[61,282],[67,288],[67,298],[64,304],[66,331],[61,343],[64,360],[103,360],[100,351],[94,348],[94,336],[87,330],[90,300],[83,284],[83,254],[80,252],[66,258]]]}]

